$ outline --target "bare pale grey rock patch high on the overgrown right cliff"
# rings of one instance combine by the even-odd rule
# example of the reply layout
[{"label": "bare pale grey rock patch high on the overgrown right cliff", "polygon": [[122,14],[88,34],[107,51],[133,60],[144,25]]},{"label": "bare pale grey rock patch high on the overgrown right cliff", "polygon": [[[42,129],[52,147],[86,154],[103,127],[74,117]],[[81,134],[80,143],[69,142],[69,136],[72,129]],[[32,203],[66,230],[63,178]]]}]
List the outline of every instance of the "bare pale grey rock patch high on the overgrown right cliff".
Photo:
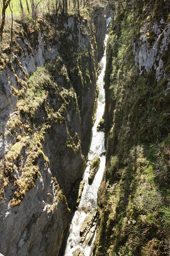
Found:
[{"label": "bare pale grey rock patch high on the overgrown right cliff", "polygon": [[[147,25],[150,27],[149,31]],[[139,74],[148,73],[154,69],[157,82],[167,75],[166,70],[163,68],[164,63],[162,54],[168,51],[170,26],[165,27],[161,45],[159,45],[160,39],[154,40],[154,38],[156,39],[157,36],[162,33],[163,27],[163,18],[160,20],[160,22],[155,20],[155,22],[151,24],[151,17],[149,17],[145,26],[143,27],[142,39],[138,39],[133,43],[135,65],[140,70]]]}]

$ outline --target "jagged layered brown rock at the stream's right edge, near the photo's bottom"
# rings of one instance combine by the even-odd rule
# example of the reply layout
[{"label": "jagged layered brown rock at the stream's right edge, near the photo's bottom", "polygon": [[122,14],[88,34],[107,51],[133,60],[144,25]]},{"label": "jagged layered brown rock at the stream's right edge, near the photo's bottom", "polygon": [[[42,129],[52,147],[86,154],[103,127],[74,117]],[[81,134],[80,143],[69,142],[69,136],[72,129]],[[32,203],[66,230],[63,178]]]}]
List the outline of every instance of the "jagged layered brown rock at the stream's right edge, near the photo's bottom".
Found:
[{"label": "jagged layered brown rock at the stream's right edge, near the photo's bottom", "polygon": [[90,245],[92,243],[95,229],[96,229],[96,220],[97,220],[97,209],[92,211],[90,215],[85,217],[85,221],[83,222],[80,229],[81,243],[86,243]]}]

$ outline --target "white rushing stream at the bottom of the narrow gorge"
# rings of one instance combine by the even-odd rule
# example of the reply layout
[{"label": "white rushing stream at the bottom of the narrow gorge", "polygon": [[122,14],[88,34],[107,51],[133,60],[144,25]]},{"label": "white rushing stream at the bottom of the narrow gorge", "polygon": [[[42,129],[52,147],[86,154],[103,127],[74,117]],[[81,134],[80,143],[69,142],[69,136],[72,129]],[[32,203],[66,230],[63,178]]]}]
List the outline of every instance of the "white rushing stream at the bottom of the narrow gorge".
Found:
[{"label": "white rushing stream at the bottom of the narrow gorge", "polygon": [[[109,25],[111,18],[107,19],[107,27]],[[105,35],[105,46],[107,44],[108,35]],[[96,112],[96,121],[92,128],[92,142],[89,150],[87,162],[87,168],[85,169],[85,173],[83,175],[83,180],[85,181],[85,186],[83,189],[83,193],[81,196],[81,200],[78,206],[78,209],[75,211],[74,216],[72,218],[72,222],[70,223],[70,228],[67,234],[67,242],[65,247],[64,256],[72,256],[74,251],[79,248],[85,254],[85,256],[90,255],[91,246],[80,243],[80,229],[82,223],[85,220],[85,217],[89,215],[92,210],[97,209],[97,192],[100,186],[100,182],[102,180],[103,172],[105,169],[105,156],[100,156],[100,167],[98,169],[97,174],[91,185],[88,183],[89,176],[89,168],[90,162],[94,157],[99,157],[99,155],[105,151],[105,135],[104,132],[97,132],[97,125],[102,118],[105,108],[105,90],[103,88],[103,78],[106,67],[106,47],[105,53],[101,60],[103,67],[100,75],[98,76],[98,88],[99,88],[99,96],[98,96],[98,109]],[[94,237],[95,238],[95,237]],[[94,239],[93,239],[94,241]]]}]

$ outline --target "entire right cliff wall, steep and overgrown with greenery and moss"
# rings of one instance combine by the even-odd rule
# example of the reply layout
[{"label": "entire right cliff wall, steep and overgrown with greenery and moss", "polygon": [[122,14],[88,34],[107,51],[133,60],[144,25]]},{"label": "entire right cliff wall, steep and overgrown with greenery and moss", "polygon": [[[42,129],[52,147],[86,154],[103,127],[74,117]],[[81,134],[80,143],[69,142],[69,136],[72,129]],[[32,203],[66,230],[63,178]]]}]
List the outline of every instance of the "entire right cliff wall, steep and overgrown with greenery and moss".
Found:
[{"label": "entire right cliff wall, steep and overgrown with greenery and moss", "polygon": [[119,1],[112,11],[93,254],[169,254],[170,3]]}]

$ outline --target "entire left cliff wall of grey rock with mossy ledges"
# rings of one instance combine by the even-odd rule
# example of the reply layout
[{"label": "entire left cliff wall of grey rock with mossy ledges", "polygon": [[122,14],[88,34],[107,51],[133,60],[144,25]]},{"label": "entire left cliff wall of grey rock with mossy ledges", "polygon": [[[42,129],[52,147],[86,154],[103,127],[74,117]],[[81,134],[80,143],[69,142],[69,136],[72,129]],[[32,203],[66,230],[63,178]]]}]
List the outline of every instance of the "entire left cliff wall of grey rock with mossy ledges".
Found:
[{"label": "entire left cliff wall of grey rock with mossy ledges", "polygon": [[83,18],[21,27],[0,60],[0,252],[58,255],[85,168],[97,47]]}]

